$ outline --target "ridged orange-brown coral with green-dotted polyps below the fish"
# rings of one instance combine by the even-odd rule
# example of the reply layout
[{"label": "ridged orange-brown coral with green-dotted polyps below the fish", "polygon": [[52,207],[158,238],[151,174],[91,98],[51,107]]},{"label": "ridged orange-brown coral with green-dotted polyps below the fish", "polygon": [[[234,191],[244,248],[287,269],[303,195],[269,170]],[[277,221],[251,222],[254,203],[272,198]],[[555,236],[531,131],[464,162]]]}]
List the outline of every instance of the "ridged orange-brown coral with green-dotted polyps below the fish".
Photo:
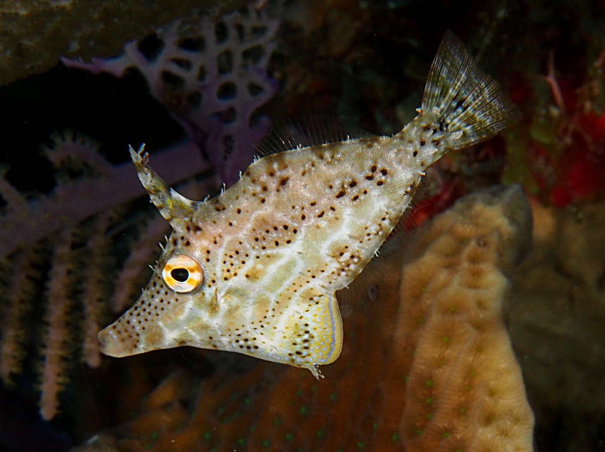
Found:
[{"label": "ridged orange-brown coral with green-dotted polyps below the fish", "polygon": [[139,416],[77,450],[532,450],[502,321],[503,272],[530,232],[518,186],[463,198],[413,246],[388,241],[339,293],[345,341],[325,379],[269,362],[200,384],[177,373]]}]

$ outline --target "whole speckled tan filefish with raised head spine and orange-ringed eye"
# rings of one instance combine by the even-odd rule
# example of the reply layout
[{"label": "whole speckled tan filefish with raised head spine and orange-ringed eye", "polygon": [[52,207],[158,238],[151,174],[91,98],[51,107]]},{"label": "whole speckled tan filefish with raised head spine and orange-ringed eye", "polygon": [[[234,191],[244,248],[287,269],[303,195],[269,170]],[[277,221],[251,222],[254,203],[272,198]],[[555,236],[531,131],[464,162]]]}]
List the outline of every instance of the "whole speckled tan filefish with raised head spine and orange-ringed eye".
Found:
[{"label": "whole speckled tan filefish with raised head spine and orange-ringed eye", "polygon": [[309,368],[342,346],[336,290],[368,264],[410,205],[424,170],[520,117],[462,42],[446,34],[418,116],[393,137],[272,154],[208,201],[169,189],[130,150],[173,232],[139,301],[99,333],[128,356],[194,346]]}]

